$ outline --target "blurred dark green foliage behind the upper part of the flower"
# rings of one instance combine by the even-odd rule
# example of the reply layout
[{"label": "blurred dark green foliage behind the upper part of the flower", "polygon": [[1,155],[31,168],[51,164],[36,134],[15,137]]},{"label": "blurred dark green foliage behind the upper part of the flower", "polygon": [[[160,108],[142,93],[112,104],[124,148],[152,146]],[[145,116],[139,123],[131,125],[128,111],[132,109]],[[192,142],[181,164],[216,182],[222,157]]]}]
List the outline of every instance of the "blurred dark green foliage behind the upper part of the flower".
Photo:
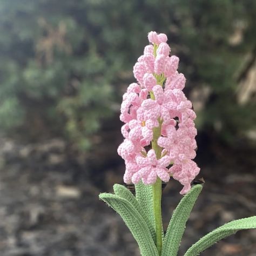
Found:
[{"label": "blurred dark green foliage behind the upper part of the flower", "polygon": [[232,140],[256,123],[255,103],[236,99],[245,56],[255,55],[255,10],[253,0],[2,0],[0,129],[88,148],[156,30],[180,57],[187,92],[210,88],[198,126],[221,124]]}]

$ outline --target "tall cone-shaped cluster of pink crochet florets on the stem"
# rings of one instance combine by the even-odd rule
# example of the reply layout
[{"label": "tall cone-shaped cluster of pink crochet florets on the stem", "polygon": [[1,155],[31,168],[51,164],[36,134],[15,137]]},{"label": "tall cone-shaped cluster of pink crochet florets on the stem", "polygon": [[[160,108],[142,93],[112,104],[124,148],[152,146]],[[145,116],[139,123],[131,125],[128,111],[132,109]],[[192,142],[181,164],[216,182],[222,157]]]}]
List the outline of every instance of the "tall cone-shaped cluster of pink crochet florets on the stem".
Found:
[{"label": "tall cone-shaped cluster of pink crochet florets on the stem", "polygon": [[133,67],[138,83],[129,85],[121,105],[124,182],[151,185],[157,177],[167,182],[172,176],[184,185],[184,194],[200,170],[192,161],[196,114],[182,91],[186,79],[177,71],[179,58],[170,56],[167,36],[151,31],[148,38],[151,44]]}]

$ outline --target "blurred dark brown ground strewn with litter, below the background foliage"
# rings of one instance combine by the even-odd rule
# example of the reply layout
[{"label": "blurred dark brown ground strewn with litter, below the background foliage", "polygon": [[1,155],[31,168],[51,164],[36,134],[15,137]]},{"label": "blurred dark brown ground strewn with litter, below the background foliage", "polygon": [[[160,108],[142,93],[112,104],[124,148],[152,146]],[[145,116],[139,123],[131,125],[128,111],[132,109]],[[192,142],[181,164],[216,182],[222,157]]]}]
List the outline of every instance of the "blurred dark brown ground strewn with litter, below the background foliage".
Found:
[{"label": "blurred dark brown ground strewn with litter, below the background foliage", "polygon": [[[110,155],[116,155],[112,151],[116,143],[109,144]],[[122,183],[122,161],[110,160],[106,167],[98,163],[97,168],[95,158],[87,156],[84,161],[70,154],[58,139],[26,145],[1,139],[1,145],[0,255],[139,255],[120,217],[98,200],[99,192],[111,192],[113,183]],[[220,148],[218,156],[206,157],[203,151],[198,152],[199,177],[206,184],[187,223],[179,255],[215,227],[256,213],[253,152]],[[85,172],[89,165],[96,167]],[[181,198],[180,189],[172,180],[164,190],[165,228]],[[201,255],[255,256],[256,231],[238,232]]]}]

